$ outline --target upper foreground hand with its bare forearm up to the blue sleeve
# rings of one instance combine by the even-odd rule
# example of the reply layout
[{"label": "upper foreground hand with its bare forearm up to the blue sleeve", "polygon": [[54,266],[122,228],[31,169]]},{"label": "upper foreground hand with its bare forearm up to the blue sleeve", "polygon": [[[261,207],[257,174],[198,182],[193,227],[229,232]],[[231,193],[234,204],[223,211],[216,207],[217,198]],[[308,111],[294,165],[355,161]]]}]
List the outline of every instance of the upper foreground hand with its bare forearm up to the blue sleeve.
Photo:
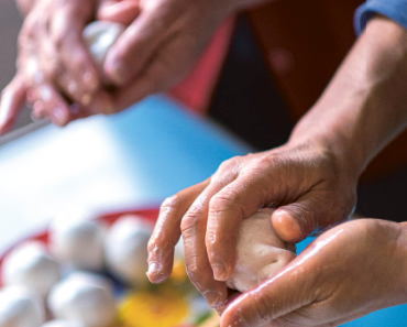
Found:
[{"label": "upper foreground hand with its bare forearm up to the blue sleeve", "polygon": [[[242,219],[262,206],[275,206],[273,226],[292,242],[344,220],[353,210],[360,174],[406,127],[406,79],[407,32],[377,17],[287,144],[233,157],[208,181],[163,204],[150,241],[150,280],[163,282],[170,274],[173,247],[183,233],[191,281],[210,305],[221,307]],[[287,296],[294,301],[297,295],[293,291]]]}]

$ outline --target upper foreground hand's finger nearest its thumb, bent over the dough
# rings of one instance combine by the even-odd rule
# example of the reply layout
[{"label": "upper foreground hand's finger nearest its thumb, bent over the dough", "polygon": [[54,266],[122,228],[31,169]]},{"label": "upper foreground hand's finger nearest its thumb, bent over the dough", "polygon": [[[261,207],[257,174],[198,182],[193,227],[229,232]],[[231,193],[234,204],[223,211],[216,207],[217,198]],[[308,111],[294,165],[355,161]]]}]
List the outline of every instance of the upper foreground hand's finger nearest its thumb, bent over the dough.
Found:
[{"label": "upper foreground hand's finger nearest its thumb, bent over the dough", "polygon": [[240,222],[267,201],[267,188],[263,176],[249,173],[240,175],[211,198],[206,246],[217,281],[228,281],[232,276]]}]

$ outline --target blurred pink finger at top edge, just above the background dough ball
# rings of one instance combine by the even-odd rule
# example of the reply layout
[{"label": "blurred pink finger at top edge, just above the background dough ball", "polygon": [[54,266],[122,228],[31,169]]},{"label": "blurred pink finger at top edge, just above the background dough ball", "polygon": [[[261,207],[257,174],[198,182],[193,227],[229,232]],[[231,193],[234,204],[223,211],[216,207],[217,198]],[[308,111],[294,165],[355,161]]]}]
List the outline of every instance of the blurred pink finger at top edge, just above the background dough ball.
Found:
[{"label": "blurred pink finger at top edge, just above the background dough ball", "polygon": [[103,0],[101,1],[97,19],[98,21],[117,22],[130,25],[140,14],[140,1],[138,0]]}]

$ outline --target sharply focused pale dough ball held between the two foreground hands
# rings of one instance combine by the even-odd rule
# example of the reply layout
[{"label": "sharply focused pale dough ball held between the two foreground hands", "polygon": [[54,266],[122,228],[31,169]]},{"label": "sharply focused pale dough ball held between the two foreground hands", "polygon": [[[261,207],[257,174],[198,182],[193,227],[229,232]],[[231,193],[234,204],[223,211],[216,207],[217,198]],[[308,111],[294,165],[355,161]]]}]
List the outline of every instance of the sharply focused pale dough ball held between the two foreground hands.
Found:
[{"label": "sharply focused pale dough ball held between the two foreground hands", "polygon": [[240,226],[238,260],[229,288],[246,292],[278,274],[296,258],[295,244],[286,243],[273,228],[273,209],[261,209]]}]

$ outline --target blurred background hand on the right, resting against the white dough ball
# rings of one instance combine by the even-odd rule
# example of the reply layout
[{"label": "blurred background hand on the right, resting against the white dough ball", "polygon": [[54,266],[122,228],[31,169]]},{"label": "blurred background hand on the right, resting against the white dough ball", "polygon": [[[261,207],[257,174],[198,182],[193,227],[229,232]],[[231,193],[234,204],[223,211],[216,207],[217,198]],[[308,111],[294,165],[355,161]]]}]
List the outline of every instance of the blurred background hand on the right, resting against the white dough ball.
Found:
[{"label": "blurred background hand on the right, resting against the white dough ball", "polygon": [[[100,17],[111,19],[111,1],[106,2]],[[139,6],[140,15],[105,63],[105,75],[117,86],[116,112],[179,83],[232,11],[228,1],[217,0],[144,0]]]}]

